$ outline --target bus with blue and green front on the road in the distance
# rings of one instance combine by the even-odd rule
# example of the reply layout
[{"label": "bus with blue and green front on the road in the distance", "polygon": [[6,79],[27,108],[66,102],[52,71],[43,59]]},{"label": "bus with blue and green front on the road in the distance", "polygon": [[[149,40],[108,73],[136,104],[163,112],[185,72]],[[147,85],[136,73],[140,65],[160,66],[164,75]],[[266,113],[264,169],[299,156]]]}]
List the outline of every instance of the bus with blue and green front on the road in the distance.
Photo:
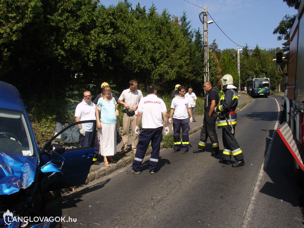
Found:
[{"label": "bus with blue and green front on the road in the distance", "polygon": [[270,94],[269,78],[252,78],[247,80],[247,93],[254,96],[267,97]]}]

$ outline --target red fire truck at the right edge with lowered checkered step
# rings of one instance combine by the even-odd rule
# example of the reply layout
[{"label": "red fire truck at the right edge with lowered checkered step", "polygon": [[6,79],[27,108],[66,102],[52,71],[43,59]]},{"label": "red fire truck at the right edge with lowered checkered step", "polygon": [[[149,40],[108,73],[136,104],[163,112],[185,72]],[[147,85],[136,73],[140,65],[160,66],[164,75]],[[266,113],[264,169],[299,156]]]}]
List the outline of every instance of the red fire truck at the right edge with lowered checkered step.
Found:
[{"label": "red fire truck at the right edge with lowered checkered step", "polygon": [[[281,125],[277,133],[294,157],[295,174],[303,176],[304,143],[304,1],[290,31],[290,47],[287,63],[287,78],[281,83],[285,89]],[[282,63],[282,53],[277,53],[277,63]],[[287,83],[286,83],[287,80]],[[286,86],[282,86],[286,85]]]}]

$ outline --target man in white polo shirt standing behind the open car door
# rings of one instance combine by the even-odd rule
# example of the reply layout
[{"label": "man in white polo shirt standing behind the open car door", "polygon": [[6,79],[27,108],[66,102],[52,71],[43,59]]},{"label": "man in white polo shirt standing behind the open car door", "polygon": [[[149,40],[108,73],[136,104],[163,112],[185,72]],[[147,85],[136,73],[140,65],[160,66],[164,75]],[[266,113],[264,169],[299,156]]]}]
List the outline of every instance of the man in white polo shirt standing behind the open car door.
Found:
[{"label": "man in white polo shirt standing behind the open car door", "polygon": [[[83,92],[83,100],[80,102],[75,110],[75,121],[83,121],[83,120],[96,120],[96,106],[91,101],[92,96],[91,92],[86,90]],[[98,116],[97,116],[98,118]],[[88,147],[91,146],[92,134],[95,133],[95,142],[94,142],[94,156],[92,164],[99,165],[97,161],[97,157],[99,154],[99,143],[97,130],[93,129],[93,123],[82,123],[78,124],[80,138],[79,138],[79,146]]]}]

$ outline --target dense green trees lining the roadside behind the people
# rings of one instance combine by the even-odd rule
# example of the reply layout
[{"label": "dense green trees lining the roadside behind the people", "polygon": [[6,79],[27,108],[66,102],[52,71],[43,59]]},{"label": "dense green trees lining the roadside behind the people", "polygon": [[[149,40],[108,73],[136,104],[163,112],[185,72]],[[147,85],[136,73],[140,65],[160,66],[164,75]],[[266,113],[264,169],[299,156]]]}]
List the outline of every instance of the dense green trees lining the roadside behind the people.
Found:
[{"label": "dense green trees lining the roadside behind the people", "polygon": [[[175,84],[203,92],[202,33],[192,30],[185,12],[178,18],[167,10],[157,13],[154,4],[148,10],[139,3],[132,8],[128,0],[107,8],[97,0],[4,0],[0,15],[0,80],[19,90],[40,143],[51,134],[53,129],[46,129],[53,128],[51,122],[74,122],[82,92],[90,90],[94,98],[103,81],[117,95],[130,79],[143,92],[153,83],[168,111]],[[274,53],[243,48],[242,86],[263,75],[276,87],[281,76],[271,61]],[[214,40],[209,57],[214,87],[223,74],[239,80],[235,49],[219,50]],[[200,115],[203,99],[197,102]]]}]

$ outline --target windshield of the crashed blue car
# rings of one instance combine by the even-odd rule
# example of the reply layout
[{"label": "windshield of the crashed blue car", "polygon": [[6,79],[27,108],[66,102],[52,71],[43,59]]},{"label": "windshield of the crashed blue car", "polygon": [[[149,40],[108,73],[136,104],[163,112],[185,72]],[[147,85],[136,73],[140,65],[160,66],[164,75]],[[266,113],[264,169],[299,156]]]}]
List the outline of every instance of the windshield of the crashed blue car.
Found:
[{"label": "windshield of the crashed blue car", "polygon": [[23,156],[36,156],[22,113],[0,109],[0,151]]}]

